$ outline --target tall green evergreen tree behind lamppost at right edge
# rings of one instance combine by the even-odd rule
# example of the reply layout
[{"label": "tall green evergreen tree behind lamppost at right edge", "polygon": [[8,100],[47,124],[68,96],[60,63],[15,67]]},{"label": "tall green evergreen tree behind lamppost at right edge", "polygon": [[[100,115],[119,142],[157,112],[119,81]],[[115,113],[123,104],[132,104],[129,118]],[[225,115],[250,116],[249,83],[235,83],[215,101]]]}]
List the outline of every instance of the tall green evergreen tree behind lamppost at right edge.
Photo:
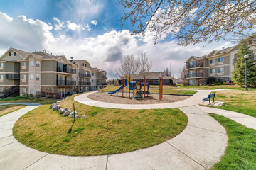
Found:
[{"label": "tall green evergreen tree behind lamppost at right edge", "polygon": [[250,47],[243,43],[237,53],[235,69],[232,72],[232,81],[240,86],[245,85],[245,55],[249,55],[247,59],[247,85],[256,86],[256,62]]}]

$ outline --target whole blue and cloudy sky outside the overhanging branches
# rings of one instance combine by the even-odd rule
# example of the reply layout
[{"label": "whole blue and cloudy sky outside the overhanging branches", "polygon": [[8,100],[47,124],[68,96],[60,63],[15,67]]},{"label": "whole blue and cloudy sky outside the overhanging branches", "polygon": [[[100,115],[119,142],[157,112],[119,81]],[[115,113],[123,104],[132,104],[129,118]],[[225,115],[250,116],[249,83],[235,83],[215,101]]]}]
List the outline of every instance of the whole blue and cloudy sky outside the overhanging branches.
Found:
[{"label": "whole blue and cloudy sky outside the overhanging branches", "polygon": [[171,63],[171,72],[178,77],[191,55],[233,45],[220,41],[182,47],[171,35],[154,45],[150,33],[131,35],[131,26],[117,21],[122,15],[114,0],[0,0],[0,54],[14,47],[73,56],[105,69],[112,79],[122,57],[146,52],[153,62],[152,71],[162,71]]}]

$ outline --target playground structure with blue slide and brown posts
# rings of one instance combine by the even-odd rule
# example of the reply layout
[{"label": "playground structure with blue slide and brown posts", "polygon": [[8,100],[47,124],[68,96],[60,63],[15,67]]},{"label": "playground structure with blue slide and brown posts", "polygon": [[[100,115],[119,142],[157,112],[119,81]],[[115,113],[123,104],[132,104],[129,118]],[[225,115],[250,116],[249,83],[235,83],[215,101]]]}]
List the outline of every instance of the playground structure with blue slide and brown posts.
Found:
[{"label": "playground structure with blue slide and brown posts", "polygon": [[[144,98],[149,97],[150,91],[149,91],[149,79],[132,79],[132,77],[129,77],[129,79],[122,79],[122,86],[119,87],[119,89],[109,92],[108,94],[112,95],[117,93],[118,96],[118,92],[122,90],[122,97],[124,97],[124,88],[126,88],[126,95],[128,96],[129,94],[129,98],[131,97],[132,94],[132,98],[135,98],[137,100],[142,100],[143,99],[143,94],[144,94]],[[159,77],[159,100],[163,99],[163,77]],[[143,90],[144,87],[144,91]]]}]

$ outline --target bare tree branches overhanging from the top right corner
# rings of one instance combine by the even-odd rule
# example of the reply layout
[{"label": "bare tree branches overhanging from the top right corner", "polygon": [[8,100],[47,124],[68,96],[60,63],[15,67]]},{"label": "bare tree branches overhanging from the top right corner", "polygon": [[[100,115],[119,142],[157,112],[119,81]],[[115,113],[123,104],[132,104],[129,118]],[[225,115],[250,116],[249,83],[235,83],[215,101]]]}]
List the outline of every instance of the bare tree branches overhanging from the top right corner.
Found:
[{"label": "bare tree branches overhanging from the top right corner", "polygon": [[256,0],[118,0],[134,33],[149,30],[155,42],[176,35],[179,45],[213,42],[228,33],[250,33],[255,26]]}]

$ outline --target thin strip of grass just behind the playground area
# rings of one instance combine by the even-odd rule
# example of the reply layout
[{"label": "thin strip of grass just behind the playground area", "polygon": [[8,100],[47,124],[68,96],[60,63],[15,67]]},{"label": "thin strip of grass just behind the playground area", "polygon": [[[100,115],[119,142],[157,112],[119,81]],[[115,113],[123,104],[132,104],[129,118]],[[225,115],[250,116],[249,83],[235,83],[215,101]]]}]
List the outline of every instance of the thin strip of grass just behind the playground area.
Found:
[{"label": "thin strip of grass just behind the playground area", "polygon": [[[119,89],[120,86],[107,86],[102,91],[115,91]],[[127,90],[128,89],[128,90]],[[128,88],[124,88],[124,92],[129,91]],[[144,91],[144,87],[142,88],[142,91]],[[159,86],[149,86],[149,91],[151,93],[159,94]],[[121,90],[122,92],[122,90]],[[171,86],[163,86],[163,93],[164,94],[183,94],[183,95],[193,95],[196,94],[197,91],[193,91],[191,89],[186,90],[186,89],[178,89],[176,87],[171,87]]]}]

